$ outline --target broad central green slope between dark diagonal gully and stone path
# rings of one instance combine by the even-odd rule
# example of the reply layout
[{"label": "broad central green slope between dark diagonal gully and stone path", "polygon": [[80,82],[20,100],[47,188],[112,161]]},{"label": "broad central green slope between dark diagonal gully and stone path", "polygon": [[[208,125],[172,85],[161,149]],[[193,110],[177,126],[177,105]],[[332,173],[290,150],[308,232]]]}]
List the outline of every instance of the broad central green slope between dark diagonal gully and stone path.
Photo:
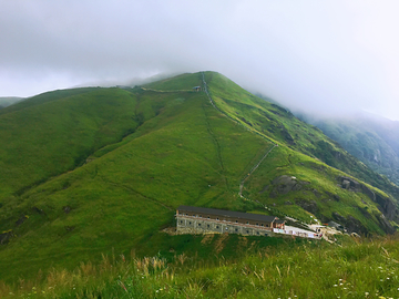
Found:
[{"label": "broad central green slope between dark diagonal gully and stone path", "polygon": [[0,230],[13,237],[1,248],[1,275],[130,249],[170,224],[182,203],[243,208],[239,178],[267,142],[226,121],[201,93],[135,95],[149,114],[167,104],[112,151],[2,207]]}]

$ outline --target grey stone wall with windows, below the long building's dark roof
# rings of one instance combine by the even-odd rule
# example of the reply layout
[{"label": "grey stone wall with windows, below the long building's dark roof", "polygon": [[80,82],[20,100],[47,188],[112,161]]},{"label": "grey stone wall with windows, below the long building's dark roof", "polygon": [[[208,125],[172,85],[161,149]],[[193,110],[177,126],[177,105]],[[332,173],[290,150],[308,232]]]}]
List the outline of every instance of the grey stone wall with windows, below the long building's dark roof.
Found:
[{"label": "grey stone wall with windows, below the long building's dark roof", "polygon": [[[203,234],[203,233],[218,233],[218,234],[239,234],[248,236],[273,236],[275,235],[270,229],[262,226],[249,226],[246,224],[236,224],[235,221],[215,220],[200,217],[187,217],[176,215],[177,233],[181,234]],[[215,217],[216,218],[216,217]]]}]

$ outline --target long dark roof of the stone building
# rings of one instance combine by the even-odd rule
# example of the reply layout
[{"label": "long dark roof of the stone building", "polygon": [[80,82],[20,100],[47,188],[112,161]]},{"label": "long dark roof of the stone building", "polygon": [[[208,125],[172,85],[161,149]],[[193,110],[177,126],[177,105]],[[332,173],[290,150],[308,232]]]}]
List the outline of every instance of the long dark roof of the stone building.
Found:
[{"label": "long dark roof of the stone building", "polygon": [[[225,217],[234,217],[234,218],[241,218],[241,219],[246,219],[246,220],[255,220],[255,221],[273,223],[274,220],[276,220],[275,216],[267,216],[267,215],[260,215],[260,214],[250,214],[250,213],[243,213],[243,212],[234,212],[234,210],[225,210],[225,209],[216,209],[216,208],[180,206],[177,208],[177,210],[194,212],[194,213],[217,215],[217,216],[225,216]],[[278,221],[285,223],[284,220],[278,220]]]}]

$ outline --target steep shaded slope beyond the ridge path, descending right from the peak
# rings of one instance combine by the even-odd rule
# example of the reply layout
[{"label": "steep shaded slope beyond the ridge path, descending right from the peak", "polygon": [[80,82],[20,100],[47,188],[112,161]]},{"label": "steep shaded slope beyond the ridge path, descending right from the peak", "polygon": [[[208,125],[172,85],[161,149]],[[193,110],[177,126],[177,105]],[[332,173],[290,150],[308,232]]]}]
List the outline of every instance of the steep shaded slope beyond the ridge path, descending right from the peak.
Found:
[{"label": "steep shaded slope beyond the ridge path, descending right from the peak", "polygon": [[319,128],[300,121],[285,109],[250,94],[221,74],[209,73],[208,78],[216,104],[229,117],[399,198],[397,186],[348,154]]}]

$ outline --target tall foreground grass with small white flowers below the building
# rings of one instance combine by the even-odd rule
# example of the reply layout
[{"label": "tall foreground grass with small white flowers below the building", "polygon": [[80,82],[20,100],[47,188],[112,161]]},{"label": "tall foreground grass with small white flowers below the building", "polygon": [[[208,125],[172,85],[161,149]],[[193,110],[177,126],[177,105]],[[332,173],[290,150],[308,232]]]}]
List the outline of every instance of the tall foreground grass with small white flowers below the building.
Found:
[{"label": "tall foreground grass with small white flowers below the building", "polygon": [[0,285],[1,298],[397,298],[399,238],[286,241],[242,258],[103,257]]}]

